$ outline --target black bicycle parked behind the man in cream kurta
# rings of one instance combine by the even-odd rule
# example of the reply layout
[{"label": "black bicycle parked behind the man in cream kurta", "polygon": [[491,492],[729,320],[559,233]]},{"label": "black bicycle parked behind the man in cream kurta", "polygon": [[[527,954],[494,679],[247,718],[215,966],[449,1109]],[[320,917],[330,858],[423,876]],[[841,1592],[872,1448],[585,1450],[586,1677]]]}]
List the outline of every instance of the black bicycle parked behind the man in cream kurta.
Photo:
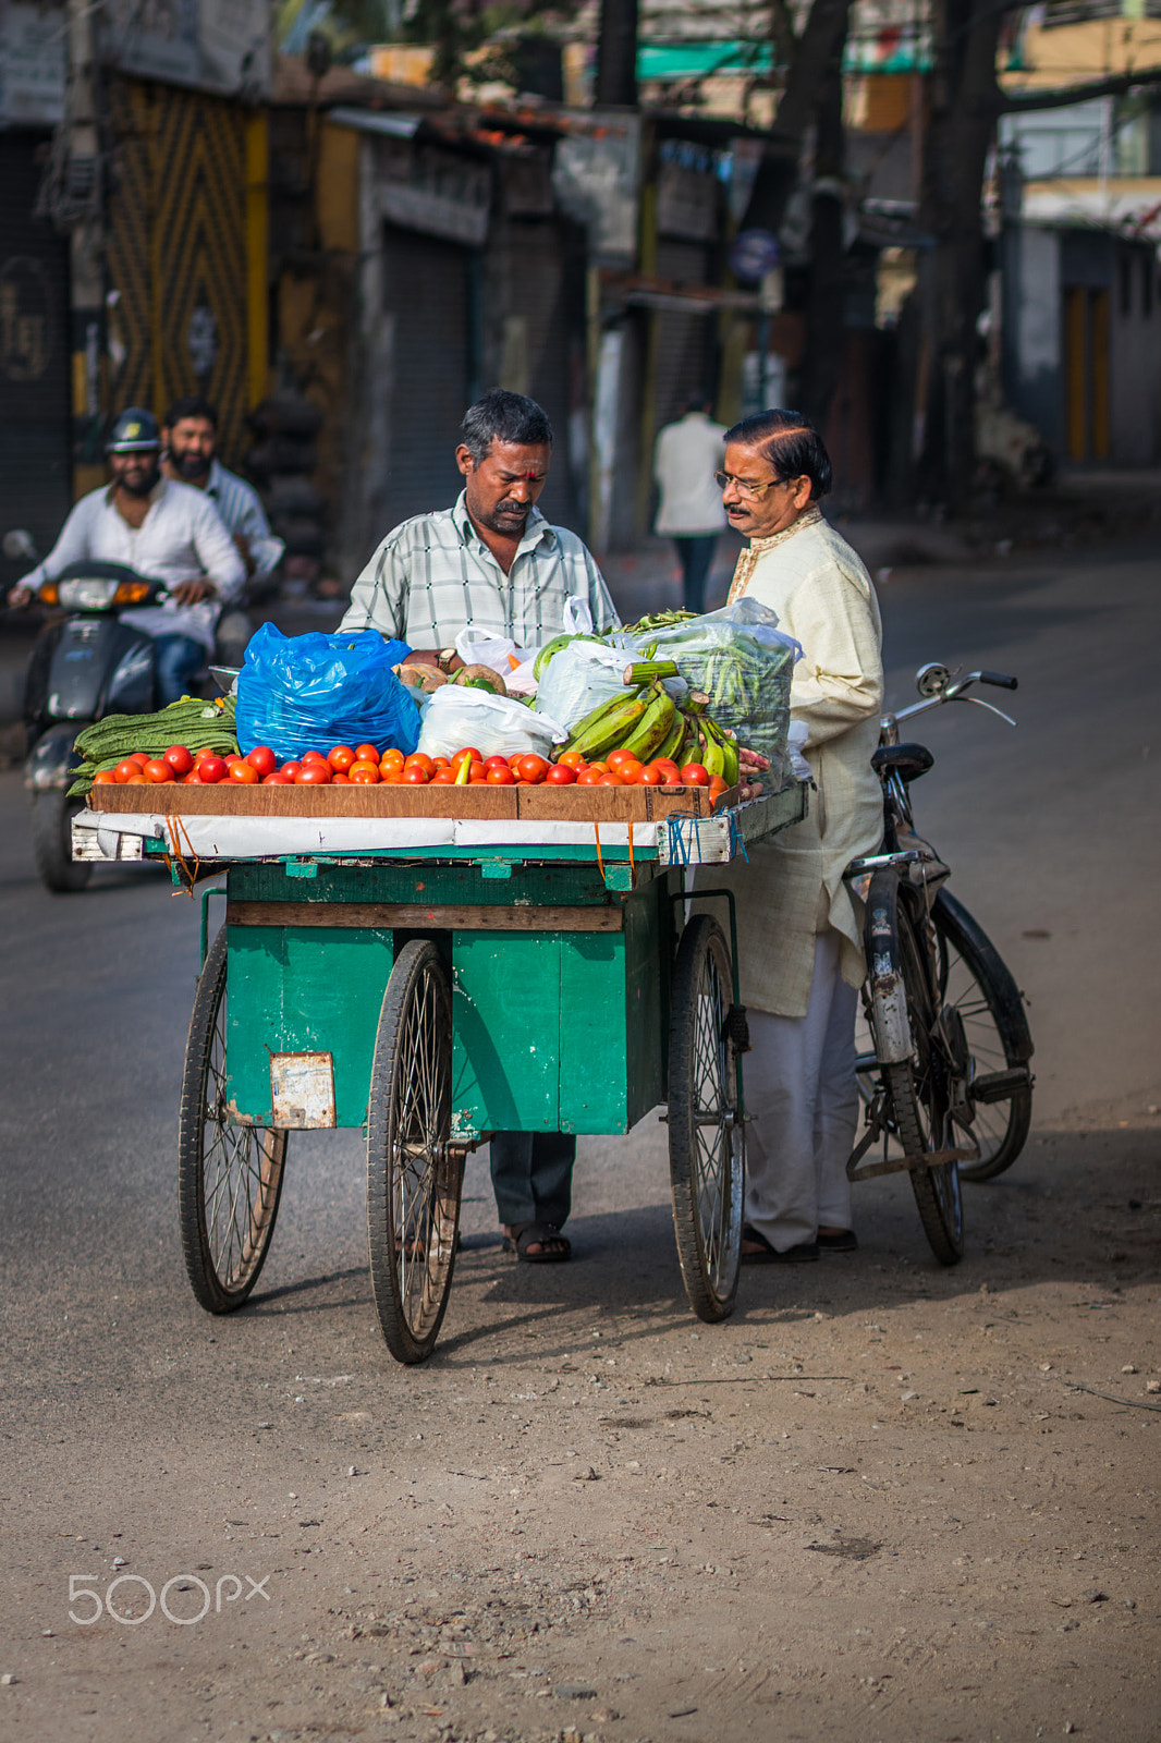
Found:
[{"label": "black bicycle parked behind the man in cream kurta", "polygon": [[[1023,999],[995,945],[943,885],[950,868],[915,833],[910,788],[934,763],[924,744],[900,743],[900,725],[945,702],[974,702],[1015,727],[974,683],[1015,690],[995,671],[966,676],[922,666],[922,701],[884,715],[872,767],[882,783],[884,851],[856,859],[845,878],[866,905],[866,981],[856,1035],[865,1133],[851,1180],[910,1173],[936,1258],[964,1253],[961,1180],[992,1180],[1020,1156],[1032,1121],[1032,1034]],[[879,1161],[865,1161],[882,1140]]]}]

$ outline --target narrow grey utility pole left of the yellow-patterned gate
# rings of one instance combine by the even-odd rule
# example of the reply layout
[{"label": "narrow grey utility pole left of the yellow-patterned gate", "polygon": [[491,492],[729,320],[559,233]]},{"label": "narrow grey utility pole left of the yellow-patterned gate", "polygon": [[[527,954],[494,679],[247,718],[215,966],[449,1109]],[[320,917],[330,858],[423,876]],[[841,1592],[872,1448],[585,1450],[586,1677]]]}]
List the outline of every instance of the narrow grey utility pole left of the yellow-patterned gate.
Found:
[{"label": "narrow grey utility pole left of the yellow-patterned gate", "polygon": [[58,221],[70,230],[73,352],[73,493],[105,481],[101,455],[101,335],[105,331],[105,228],[98,124],[96,7],[68,0],[66,138]]}]

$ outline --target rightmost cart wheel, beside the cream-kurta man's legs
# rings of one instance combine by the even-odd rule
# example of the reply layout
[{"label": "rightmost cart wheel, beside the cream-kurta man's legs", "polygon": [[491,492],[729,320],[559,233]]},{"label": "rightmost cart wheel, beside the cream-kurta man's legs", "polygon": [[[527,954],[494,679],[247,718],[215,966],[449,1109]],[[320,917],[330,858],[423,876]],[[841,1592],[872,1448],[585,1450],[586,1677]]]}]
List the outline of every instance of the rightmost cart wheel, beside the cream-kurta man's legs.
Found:
[{"label": "rightmost cart wheel, beside the cream-kurta man's legs", "polygon": [[725,1039],[732,1006],[722,929],[696,915],[682,933],[669,1018],[669,1180],[689,1304],[699,1319],[734,1311],[741,1265],[746,1128],[737,1061]]}]

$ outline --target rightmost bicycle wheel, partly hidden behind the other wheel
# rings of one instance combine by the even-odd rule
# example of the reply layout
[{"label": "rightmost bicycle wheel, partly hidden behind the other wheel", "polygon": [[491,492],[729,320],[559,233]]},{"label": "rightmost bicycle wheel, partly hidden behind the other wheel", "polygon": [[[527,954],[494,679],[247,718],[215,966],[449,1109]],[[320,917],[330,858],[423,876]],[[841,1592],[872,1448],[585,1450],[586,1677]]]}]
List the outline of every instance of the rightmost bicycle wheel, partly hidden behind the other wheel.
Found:
[{"label": "rightmost bicycle wheel, partly hidden behind the other wheel", "polygon": [[1011,1168],[1029,1138],[1032,1034],[1020,988],[964,905],[941,889],[931,917],[941,1004],[959,1011],[980,1091],[971,1103],[980,1159],[961,1163],[959,1171],[964,1180],[992,1180]]}]

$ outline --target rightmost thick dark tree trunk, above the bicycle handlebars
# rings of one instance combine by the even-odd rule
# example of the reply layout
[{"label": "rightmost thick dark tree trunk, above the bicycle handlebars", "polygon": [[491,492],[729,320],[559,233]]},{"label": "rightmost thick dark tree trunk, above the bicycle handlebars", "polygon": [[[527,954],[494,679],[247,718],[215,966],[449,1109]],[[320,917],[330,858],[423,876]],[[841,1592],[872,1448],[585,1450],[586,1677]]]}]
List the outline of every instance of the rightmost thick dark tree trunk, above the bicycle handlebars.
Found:
[{"label": "rightmost thick dark tree trunk, above the bicycle handlebars", "polygon": [[920,227],[936,246],[922,268],[931,356],[924,483],[954,514],[971,507],[976,464],[976,322],[985,300],[983,173],[995,131],[994,0],[940,0]]}]

